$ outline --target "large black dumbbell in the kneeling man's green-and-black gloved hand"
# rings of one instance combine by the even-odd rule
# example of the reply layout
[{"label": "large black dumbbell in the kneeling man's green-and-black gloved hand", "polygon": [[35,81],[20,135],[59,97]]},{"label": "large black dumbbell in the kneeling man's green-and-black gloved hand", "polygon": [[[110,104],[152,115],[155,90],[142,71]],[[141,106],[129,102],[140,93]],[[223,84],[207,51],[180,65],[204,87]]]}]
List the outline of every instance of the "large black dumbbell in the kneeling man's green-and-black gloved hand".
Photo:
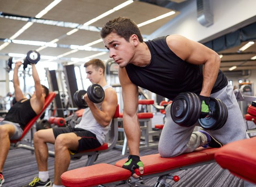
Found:
[{"label": "large black dumbbell in the kneeling man's green-and-black gloved hand", "polygon": [[198,95],[192,92],[180,93],[172,101],[170,109],[172,120],[182,127],[190,127],[196,121],[207,130],[223,127],[228,119],[228,109],[220,99],[210,97],[209,113],[205,118],[199,118],[201,107]]}]

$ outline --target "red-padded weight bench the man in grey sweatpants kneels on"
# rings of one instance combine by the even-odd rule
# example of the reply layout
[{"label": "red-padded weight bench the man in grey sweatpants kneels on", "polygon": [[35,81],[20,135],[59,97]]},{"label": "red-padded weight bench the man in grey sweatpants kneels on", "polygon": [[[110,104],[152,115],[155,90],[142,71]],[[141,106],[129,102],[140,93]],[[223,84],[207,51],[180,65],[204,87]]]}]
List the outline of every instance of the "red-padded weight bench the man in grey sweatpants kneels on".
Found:
[{"label": "red-padded weight bench the man in grey sweatpants kneels on", "polygon": [[[135,186],[136,182],[158,177],[156,180],[156,187],[171,186],[166,182],[166,179],[171,179],[170,173],[181,171],[213,163],[214,153],[218,148],[202,147],[196,149],[192,153],[184,153],[172,158],[162,158],[159,154],[146,155],[140,157],[144,163],[144,174],[139,179],[134,179],[131,172],[122,168],[122,165],[127,161],[123,159],[118,161],[115,165],[100,163],[88,167],[82,167],[66,171],[61,175],[62,184],[67,187],[90,187],[90,186]],[[138,169],[135,169],[137,175]]]}]

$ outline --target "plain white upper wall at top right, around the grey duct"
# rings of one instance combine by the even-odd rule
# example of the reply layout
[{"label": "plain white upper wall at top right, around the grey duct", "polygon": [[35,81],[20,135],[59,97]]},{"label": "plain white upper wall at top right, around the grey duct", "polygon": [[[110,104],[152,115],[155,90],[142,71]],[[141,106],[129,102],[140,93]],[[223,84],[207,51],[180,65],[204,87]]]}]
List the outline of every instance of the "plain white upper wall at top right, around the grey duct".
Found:
[{"label": "plain white upper wall at top right, around the grey duct", "polygon": [[180,10],[182,12],[180,15],[156,30],[148,38],[180,34],[191,40],[201,41],[256,16],[256,0],[211,0],[210,2],[214,16],[212,26],[204,27],[197,21],[196,0],[190,0]]}]

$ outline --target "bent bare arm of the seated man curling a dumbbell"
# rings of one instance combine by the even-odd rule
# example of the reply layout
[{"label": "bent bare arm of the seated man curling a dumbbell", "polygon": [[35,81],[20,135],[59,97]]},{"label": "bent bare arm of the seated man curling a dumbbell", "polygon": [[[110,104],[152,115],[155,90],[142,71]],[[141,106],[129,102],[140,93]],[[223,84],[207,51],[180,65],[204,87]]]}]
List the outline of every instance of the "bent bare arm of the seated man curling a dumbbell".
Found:
[{"label": "bent bare arm of the seated man curling a dumbbell", "polygon": [[[86,94],[87,97],[87,94]],[[102,126],[106,127],[111,119],[113,118],[116,106],[117,106],[117,95],[116,92],[112,88],[108,88],[105,90],[105,98],[102,103],[102,108],[99,110],[92,101],[86,98],[86,103],[90,110],[92,111],[92,115],[96,119],[96,121]]]}]

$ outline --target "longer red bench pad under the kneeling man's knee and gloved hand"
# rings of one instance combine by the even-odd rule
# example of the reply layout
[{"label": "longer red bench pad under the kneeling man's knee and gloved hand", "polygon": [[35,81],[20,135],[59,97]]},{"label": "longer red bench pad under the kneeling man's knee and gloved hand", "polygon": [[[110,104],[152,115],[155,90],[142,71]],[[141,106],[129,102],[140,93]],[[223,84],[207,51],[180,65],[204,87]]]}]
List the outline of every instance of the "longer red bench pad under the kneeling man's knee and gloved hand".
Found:
[{"label": "longer red bench pad under the kneeling man's knee and gloved hand", "polygon": [[[146,155],[140,157],[140,160],[144,164],[144,174],[149,175],[153,173],[159,173],[163,171],[168,171],[170,169],[174,169],[177,167],[185,166],[185,165],[192,165],[194,163],[208,161],[214,159],[214,153],[216,152],[217,148],[200,148],[192,153],[184,153],[182,155],[178,155],[172,158],[163,158],[160,157],[159,154],[154,155]],[[120,160],[116,162],[116,166],[122,167],[127,159]],[[140,175],[138,169],[135,169],[137,175]]]}]

